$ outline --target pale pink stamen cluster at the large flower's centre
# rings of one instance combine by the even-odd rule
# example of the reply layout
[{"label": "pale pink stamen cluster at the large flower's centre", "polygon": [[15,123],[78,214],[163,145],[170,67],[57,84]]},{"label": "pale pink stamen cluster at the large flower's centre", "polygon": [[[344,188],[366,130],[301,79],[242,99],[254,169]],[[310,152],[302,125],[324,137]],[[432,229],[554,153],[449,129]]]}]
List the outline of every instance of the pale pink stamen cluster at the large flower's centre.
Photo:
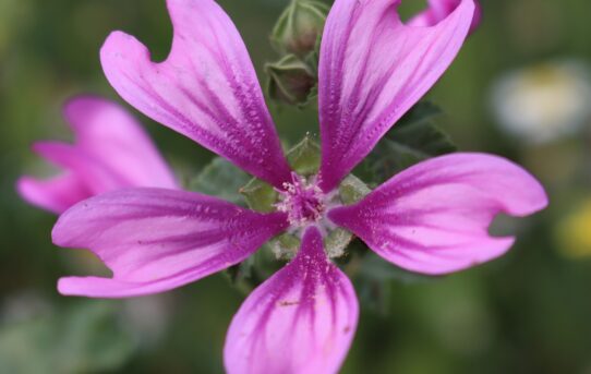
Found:
[{"label": "pale pink stamen cluster at the large flower's centre", "polygon": [[324,193],[314,181],[309,182],[294,172],[291,180],[291,183],[284,183],[285,191],[279,192],[280,201],[275,205],[277,210],[287,213],[293,226],[318,221],[325,210]]}]

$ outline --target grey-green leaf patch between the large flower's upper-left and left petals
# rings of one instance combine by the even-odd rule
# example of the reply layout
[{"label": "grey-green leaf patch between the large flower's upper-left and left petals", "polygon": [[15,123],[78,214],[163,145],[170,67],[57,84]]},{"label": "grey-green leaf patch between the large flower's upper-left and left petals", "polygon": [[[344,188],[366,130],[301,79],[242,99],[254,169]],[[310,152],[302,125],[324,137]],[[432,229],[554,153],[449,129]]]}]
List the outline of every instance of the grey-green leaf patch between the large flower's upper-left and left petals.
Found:
[{"label": "grey-green leaf patch between the large flower's upper-left and left petals", "polygon": [[216,157],[189,184],[189,190],[244,204],[239,190],[251,177],[221,157]]}]

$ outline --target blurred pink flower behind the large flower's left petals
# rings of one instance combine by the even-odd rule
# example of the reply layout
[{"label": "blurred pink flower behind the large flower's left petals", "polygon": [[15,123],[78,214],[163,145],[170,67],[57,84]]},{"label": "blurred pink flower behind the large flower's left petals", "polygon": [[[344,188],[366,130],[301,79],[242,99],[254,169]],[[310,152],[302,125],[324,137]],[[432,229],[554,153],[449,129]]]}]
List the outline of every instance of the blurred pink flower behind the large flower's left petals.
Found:
[{"label": "blurred pink flower behind the large flower's left petals", "polygon": [[117,104],[79,96],[64,108],[74,144],[39,142],[33,150],[63,171],[51,179],[22,177],[19,194],[40,208],[63,213],[91,196],[130,186],[177,189],[142,126]]}]

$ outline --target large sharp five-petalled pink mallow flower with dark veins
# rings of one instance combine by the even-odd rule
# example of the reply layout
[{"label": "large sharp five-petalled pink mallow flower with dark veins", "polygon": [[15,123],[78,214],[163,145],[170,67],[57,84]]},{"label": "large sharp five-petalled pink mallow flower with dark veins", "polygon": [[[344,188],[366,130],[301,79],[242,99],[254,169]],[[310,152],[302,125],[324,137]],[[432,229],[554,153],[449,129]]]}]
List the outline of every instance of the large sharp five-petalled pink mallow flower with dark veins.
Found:
[{"label": "large sharp five-petalled pink mallow flower with dark veins", "polygon": [[168,59],[155,63],[134,37],[112,33],[101,50],[118,93],[152,119],[226,157],[280,191],[263,214],[198,193],[128,189],[65,212],[53,242],[88,248],[112,278],[70,277],[63,294],[123,298],[170,290],[238,264],[282,231],[300,234],[296,257],[257,288],[226,340],[229,373],[334,373],[358,323],[349,279],[323,237],[336,227],[377,254],[425,274],[465,269],[505,253],[514,238],[487,233],[499,213],[546,206],[543,188],[515,164],[455,154],[419,164],[359,203],[336,189],[378,140],[439,79],[474,15],[462,0],[429,27],[403,25],[397,0],[336,0],[319,61],[322,164],[293,174],[282,154],[246,48],[213,0],[168,0]]}]

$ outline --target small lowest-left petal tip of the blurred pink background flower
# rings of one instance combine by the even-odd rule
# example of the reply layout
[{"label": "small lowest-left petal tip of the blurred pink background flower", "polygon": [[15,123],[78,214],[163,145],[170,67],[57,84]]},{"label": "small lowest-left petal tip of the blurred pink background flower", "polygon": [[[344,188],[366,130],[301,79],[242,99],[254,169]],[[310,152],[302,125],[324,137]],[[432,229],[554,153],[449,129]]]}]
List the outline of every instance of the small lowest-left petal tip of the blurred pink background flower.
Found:
[{"label": "small lowest-left petal tip of the blurred pink background flower", "polygon": [[22,177],[16,182],[16,191],[29,204],[56,214],[92,195],[73,173],[63,173],[48,180]]}]

